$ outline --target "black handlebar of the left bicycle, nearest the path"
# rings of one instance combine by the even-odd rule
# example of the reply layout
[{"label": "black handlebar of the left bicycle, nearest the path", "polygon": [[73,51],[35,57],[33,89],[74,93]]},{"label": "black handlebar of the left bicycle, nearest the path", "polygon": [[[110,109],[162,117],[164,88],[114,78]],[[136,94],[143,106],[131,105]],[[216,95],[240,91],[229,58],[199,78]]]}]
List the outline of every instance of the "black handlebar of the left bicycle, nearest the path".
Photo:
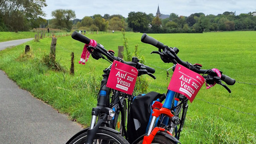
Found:
[{"label": "black handlebar of the left bicycle, nearest the path", "polygon": [[[73,32],[73,34],[72,34],[72,36],[71,36],[73,39],[75,39],[75,40],[78,40],[78,41],[80,41],[80,42],[83,42],[83,43],[86,43],[86,44],[89,44],[90,43],[90,41],[91,41],[91,39],[90,38],[88,38],[88,37],[86,37],[86,36],[84,36],[84,35],[82,35],[82,34],[80,34],[80,33],[78,33],[78,32],[76,32],[76,31],[74,31]],[[122,63],[125,63],[125,64],[128,64],[128,65],[132,65],[132,66],[134,66],[134,67],[136,67],[137,69],[146,69],[146,71],[145,71],[145,73],[146,72],[148,72],[148,73],[151,73],[151,74],[154,74],[155,73],[155,69],[154,68],[152,68],[152,67],[150,67],[150,66],[147,66],[147,65],[144,65],[144,64],[142,64],[142,63],[139,63],[138,62],[138,59],[137,60],[133,60],[133,61],[131,61],[131,62],[126,62],[126,61],[124,61],[124,60],[122,60],[121,58],[119,58],[119,57],[115,57],[114,55],[112,55],[112,54],[110,54],[106,49],[104,49],[104,47],[103,47],[103,45],[101,45],[101,44],[97,44],[97,46],[96,47],[94,47],[94,49],[93,49],[93,51],[91,52],[91,53],[100,53],[100,54],[102,54],[102,55],[104,55],[104,56],[106,56],[110,61],[114,61],[114,60],[116,60],[116,61],[120,61],[120,62],[122,62]],[[153,76],[153,75],[152,75]],[[151,76],[151,77],[152,77]],[[155,79],[155,78],[154,78]]]}]

